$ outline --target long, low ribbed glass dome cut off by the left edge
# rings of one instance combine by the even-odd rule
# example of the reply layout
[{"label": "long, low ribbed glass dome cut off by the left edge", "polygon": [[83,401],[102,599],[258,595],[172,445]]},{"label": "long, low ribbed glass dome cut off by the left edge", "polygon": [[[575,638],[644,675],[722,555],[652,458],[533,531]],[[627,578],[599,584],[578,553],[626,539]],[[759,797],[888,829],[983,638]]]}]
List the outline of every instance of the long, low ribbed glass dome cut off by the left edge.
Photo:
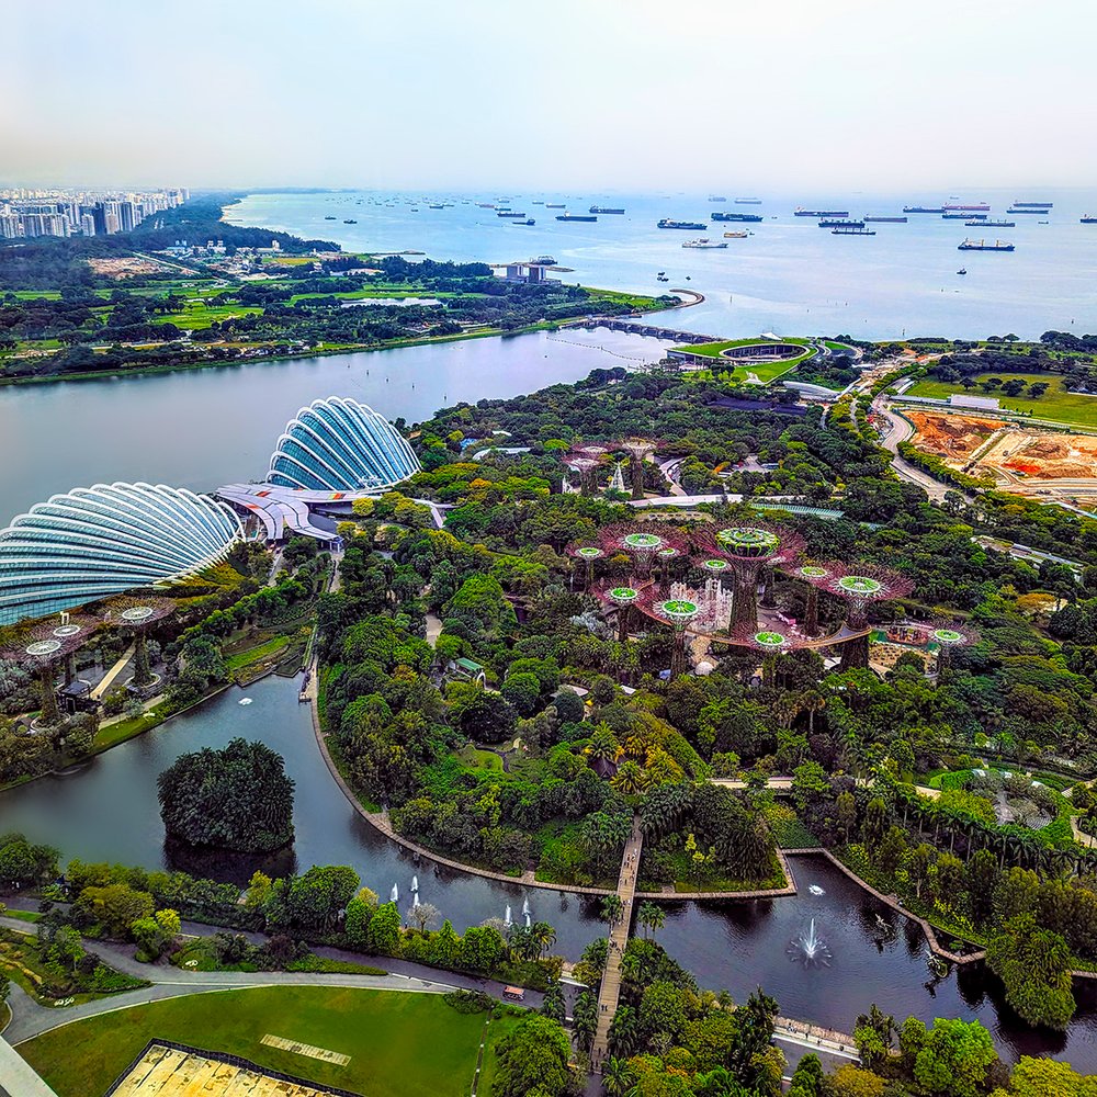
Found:
[{"label": "long, low ribbed glass dome cut off by the left edge", "polygon": [[39,502],[0,530],[0,625],[224,559],[241,535],[231,508],[163,484],[97,484]]}]

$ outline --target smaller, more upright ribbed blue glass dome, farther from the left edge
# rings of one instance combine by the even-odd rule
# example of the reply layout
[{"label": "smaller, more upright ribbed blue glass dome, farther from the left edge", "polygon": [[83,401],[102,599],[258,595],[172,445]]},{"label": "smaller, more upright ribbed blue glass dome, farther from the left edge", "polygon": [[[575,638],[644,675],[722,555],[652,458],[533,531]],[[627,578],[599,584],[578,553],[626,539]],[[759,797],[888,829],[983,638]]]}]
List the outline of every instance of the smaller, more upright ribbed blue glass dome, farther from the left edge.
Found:
[{"label": "smaller, more upright ribbed blue glass dome, farther from the left edge", "polygon": [[310,491],[361,491],[394,487],[418,471],[410,443],[384,416],[331,396],[286,423],[267,480]]}]

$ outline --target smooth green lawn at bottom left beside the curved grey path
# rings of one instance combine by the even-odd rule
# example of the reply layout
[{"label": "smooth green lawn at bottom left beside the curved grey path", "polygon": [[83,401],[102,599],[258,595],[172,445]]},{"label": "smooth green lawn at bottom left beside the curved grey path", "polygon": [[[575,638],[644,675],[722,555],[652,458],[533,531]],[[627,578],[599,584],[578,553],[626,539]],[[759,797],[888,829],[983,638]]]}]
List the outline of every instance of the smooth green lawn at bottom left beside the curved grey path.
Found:
[{"label": "smooth green lawn at bottom left beside the curved grey path", "polygon": [[[369,1097],[461,1097],[470,1092],[484,1014],[440,995],[332,986],[267,986],[191,994],[90,1017],[19,1045],[58,1097],[103,1094],[145,1044],[160,1038],[241,1055],[259,1066]],[[516,1024],[489,1027],[494,1044]],[[350,1055],[344,1066],[260,1041],[267,1034]],[[483,1085],[480,1089],[487,1093]]]}]

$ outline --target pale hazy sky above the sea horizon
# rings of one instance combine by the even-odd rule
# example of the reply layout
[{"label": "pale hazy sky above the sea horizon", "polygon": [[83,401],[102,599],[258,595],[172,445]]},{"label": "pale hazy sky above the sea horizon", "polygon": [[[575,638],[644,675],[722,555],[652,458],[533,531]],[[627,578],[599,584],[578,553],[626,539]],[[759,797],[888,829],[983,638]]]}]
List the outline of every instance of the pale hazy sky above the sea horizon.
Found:
[{"label": "pale hazy sky above the sea horizon", "polygon": [[3,0],[0,181],[1097,184],[1095,0]]}]

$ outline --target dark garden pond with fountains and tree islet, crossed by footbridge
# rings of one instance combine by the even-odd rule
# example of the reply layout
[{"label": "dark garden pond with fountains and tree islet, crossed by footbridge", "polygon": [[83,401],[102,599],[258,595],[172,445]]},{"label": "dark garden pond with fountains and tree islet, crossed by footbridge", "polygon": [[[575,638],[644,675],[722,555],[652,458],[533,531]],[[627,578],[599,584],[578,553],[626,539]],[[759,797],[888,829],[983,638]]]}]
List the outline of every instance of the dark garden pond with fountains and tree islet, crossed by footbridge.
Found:
[{"label": "dark garden pond with fountains and tree islet, crossed by footbridge", "polygon": [[[245,697],[252,703],[241,705]],[[220,746],[236,735],[261,739],[286,760],[296,782],[293,852],[273,860],[180,858],[165,846],[156,777],[181,753]],[[331,781],[308,710],[297,703],[297,682],[280,678],[264,679],[246,691],[230,689],[197,711],[97,758],[77,774],[0,795],[0,830],[9,828],[56,844],[65,858],[183,868],[237,882],[257,867],[285,872],[314,863],[351,864],[383,900],[397,884],[402,909],[410,902],[411,877],[418,873],[421,901],[438,906],[459,930],[502,917],[508,904],[518,918],[528,898],[532,916],[556,927],[558,947],[572,958],[604,931],[590,900],[497,884],[426,862],[416,866],[378,838]],[[846,1031],[871,1002],[896,1016],[914,1013],[927,1021],[936,1016],[977,1017],[994,1031],[1003,1055],[1054,1055],[1082,1070],[1097,1070],[1093,983],[1079,986],[1079,1018],[1066,1038],[1019,1025],[989,986],[993,981],[979,972],[950,975],[934,996],[925,986],[926,943],[919,930],[881,908],[822,858],[794,858],[793,864],[801,886],[795,897],[674,904],[658,939],[703,986],[726,986],[742,999],[761,984],[785,1016]],[[813,896],[807,891],[812,883],[826,894]],[[878,940],[878,909],[895,926],[885,941]],[[829,968],[805,970],[785,954],[789,941],[806,929],[812,917],[833,951]]]}]

